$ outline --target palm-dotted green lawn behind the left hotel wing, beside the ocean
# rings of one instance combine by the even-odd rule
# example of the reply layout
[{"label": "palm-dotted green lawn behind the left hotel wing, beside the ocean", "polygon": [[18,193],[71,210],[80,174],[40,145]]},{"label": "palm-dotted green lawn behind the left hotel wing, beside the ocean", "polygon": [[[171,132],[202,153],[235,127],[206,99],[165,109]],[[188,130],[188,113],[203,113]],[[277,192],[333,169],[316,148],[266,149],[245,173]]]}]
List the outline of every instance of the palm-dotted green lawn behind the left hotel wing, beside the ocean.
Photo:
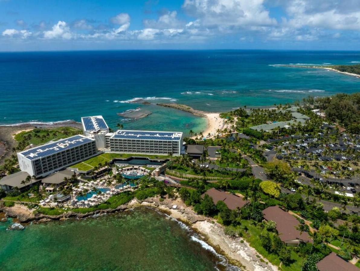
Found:
[{"label": "palm-dotted green lawn behind the left hotel wing, beside the ocean", "polygon": [[[46,136],[48,133],[49,135]],[[20,142],[24,139],[24,137],[31,135],[31,139],[27,140],[27,145],[30,144],[39,145],[49,142],[50,140],[58,140],[78,134],[82,134],[82,131],[73,127],[57,127],[57,128],[49,128],[49,129],[37,128],[31,131],[21,132],[15,135],[14,138],[16,141]],[[40,138],[35,135],[40,136]]]}]

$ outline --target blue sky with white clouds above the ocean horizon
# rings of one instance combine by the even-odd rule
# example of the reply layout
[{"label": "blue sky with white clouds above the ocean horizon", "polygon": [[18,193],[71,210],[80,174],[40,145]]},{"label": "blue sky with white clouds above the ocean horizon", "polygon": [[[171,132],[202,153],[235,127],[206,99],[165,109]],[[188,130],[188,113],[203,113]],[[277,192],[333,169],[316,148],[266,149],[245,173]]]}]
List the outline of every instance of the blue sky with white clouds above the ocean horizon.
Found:
[{"label": "blue sky with white clouds above the ocean horizon", "polygon": [[0,0],[0,51],[359,48],[360,0]]}]

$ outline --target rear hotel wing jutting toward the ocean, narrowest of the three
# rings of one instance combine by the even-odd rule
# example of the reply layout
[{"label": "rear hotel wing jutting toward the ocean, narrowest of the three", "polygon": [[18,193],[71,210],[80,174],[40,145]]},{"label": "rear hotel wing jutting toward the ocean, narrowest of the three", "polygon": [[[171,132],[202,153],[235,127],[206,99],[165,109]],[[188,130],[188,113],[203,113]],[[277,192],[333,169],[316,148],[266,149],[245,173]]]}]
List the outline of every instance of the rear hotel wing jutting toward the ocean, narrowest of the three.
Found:
[{"label": "rear hotel wing jutting toward the ocean, narrowest of the three", "polygon": [[98,149],[105,148],[105,135],[109,132],[103,116],[90,116],[81,118],[84,135],[95,139]]}]

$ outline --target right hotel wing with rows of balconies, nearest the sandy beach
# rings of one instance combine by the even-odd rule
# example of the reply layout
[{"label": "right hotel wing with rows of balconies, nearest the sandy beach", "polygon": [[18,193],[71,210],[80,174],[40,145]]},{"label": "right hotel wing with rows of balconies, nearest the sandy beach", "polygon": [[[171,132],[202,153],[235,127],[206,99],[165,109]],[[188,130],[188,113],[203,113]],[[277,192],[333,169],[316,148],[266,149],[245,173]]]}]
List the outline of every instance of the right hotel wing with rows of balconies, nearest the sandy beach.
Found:
[{"label": "right hotel wing with rows of balconies, nearest the sandy beach", "polygon": [[183,133],[118,130],[106,134],[105,142],[113,153],[180,155]]}]

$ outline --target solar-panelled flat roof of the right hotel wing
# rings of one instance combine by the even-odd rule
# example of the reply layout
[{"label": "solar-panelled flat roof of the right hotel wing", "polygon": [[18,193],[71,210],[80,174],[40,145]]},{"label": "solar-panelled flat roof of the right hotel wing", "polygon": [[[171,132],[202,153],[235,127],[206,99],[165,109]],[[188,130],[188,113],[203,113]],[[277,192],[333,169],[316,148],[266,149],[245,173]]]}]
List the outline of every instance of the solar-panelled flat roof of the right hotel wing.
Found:
[{"label": "solar-panelled flat roof of the right hotel wing", "polygon": [[182,132],[117,130],[111,138],[173,141],[180,140],[182,136]]}]

